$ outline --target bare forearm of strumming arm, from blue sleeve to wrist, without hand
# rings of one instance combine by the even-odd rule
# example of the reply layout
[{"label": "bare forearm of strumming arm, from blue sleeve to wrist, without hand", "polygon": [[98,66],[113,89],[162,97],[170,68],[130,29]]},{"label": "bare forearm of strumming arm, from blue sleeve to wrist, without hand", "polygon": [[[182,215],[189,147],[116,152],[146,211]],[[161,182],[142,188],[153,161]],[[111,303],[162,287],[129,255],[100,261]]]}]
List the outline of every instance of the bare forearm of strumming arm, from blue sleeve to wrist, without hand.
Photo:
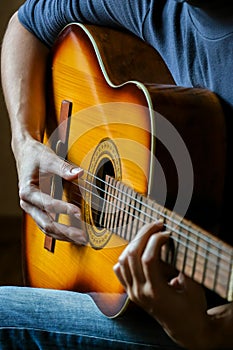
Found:
[{"label": "bare forearm of strumming arm, from blue sleeve to wrist, without hand", "polygon": [[48,49],[18,21],[9,22],[2,46],[1,72],[12,130],[12,148],[29,138],[41,140],[45,122]]}]

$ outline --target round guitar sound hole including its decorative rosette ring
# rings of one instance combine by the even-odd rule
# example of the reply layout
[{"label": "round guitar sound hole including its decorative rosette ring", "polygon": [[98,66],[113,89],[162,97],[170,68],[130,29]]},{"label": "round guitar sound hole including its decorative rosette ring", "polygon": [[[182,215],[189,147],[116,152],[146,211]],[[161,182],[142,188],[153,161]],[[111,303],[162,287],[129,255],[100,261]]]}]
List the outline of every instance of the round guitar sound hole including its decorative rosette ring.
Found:
[{"label": "round guitar sound hole including its decorative rosette ring", "polygon": [[109,138],[101,140],[95,148],[86,178],[83,218],[89,242],[95,249],[106,246],[111,238],[109,220],[113,203],[109,194],[106,194],[109,192],[106,176],[119,180],[122,178],[118,149]]}]

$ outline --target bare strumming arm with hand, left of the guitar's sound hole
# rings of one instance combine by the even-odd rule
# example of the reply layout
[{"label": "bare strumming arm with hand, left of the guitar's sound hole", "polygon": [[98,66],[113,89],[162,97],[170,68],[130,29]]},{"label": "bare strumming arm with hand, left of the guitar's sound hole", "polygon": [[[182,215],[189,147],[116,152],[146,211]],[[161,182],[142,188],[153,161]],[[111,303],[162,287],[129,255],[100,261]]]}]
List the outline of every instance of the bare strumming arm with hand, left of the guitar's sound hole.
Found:
[{"label": "bare strumming arm with hand, left of the guitar's sound hole", "polygon": [[[9,22],[2,47],[2,85],[11,122],[21,207],[51,236],[85,241],[83,232],[54,222],[50,213],[79,217],[79,209],[41,194],[39,171],[72,180],[80,169],[59,159],[41,143],[45,126],[45,72],[49,50],[19,22]],[[41,157],[41,154],[44,156]]]}]

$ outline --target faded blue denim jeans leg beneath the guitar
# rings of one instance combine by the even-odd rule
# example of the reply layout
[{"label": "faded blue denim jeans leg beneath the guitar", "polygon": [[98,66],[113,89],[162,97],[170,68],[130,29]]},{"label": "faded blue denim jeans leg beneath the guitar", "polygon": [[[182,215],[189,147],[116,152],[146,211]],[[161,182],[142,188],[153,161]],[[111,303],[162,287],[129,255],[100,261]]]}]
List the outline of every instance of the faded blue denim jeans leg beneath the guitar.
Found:
[{"label": "faded blue denim jeans leg beneath the guitar", "polygon": [[85,294],[0,287],[0,349],[179,349],[140,310],[104,316]]}]

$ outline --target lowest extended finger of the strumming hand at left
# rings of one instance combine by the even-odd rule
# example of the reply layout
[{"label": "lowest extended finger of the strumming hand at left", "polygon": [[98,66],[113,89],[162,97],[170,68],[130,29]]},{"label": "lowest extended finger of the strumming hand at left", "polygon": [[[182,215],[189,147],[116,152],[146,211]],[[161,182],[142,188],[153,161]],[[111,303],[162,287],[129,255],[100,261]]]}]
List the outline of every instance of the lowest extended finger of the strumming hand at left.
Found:
[{"label": "lowest extended finger of the strumming hand at left", "polygon": [[24,202],[24,210],[31,215],[39,226],[40,230],[58,240],[73,242],[76,244],[86,244],[86,233],[74,226],[67,226],[56,222],[48,213]]}]

